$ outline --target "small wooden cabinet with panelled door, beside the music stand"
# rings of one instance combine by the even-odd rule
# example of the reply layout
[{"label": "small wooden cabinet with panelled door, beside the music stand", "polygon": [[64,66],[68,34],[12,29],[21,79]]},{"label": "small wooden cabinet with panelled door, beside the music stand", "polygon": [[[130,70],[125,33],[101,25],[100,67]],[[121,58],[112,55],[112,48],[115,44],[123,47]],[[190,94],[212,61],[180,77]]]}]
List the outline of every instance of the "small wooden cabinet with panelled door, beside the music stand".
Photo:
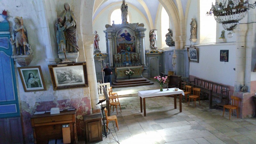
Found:
[{"label": "small wooden cabinet with panelled door, beside the music stand", "polygon": [[102,141],[102,114],[95,113],[84,116],[87,143]]}]

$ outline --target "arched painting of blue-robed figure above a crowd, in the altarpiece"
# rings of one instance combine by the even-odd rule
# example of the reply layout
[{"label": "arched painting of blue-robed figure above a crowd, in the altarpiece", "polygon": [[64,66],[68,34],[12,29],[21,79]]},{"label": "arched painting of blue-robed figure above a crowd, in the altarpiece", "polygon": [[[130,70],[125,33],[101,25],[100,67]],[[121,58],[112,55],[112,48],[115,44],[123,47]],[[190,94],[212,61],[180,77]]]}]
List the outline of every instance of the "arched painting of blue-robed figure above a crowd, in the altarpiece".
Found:
[{"label": "arched painting of blue-robed figure above a crowd, in the altarpiece", "polygon": [[116,32],[116,53],[123,52],[136,52],[136,36],[130,28],[120,28]]}]

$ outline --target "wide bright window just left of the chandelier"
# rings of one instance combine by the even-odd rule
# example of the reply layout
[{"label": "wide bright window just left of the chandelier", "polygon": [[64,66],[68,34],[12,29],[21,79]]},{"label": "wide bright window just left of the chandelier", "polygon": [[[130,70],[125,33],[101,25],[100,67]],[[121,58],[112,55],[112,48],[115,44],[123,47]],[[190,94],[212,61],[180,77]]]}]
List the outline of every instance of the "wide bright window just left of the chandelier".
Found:
[{"label": "wide bright window just left of the chandelier", "polygon": [[213,0],[200,0],[200,44],[216,43],[216,21],[213,15],[206,16],[212,2],[215,4]]}]

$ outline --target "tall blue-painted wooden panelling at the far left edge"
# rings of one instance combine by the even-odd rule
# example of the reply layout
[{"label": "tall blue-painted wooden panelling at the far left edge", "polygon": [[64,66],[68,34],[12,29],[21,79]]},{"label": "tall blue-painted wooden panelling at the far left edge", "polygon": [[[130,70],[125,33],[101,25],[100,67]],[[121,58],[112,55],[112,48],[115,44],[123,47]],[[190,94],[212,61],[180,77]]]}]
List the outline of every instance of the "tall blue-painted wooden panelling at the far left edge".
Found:
[{"label": "tall blue-painted wooden panelling at the far left edge", "polygon": [[9,24],[0,23],[0,143],[23,143]]}]

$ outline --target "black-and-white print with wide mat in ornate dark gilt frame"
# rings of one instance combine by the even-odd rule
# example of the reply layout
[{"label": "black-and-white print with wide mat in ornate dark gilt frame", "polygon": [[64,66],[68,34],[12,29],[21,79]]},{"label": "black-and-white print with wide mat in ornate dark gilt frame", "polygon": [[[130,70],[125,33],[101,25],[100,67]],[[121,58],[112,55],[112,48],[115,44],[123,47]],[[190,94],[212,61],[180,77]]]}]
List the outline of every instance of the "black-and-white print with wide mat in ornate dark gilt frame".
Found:
[{"label": "black-and-white print with wide mat in ornate dark gilt frame", "polygon": [[48,65],[53,90],[88,87],[86,62]]}]

